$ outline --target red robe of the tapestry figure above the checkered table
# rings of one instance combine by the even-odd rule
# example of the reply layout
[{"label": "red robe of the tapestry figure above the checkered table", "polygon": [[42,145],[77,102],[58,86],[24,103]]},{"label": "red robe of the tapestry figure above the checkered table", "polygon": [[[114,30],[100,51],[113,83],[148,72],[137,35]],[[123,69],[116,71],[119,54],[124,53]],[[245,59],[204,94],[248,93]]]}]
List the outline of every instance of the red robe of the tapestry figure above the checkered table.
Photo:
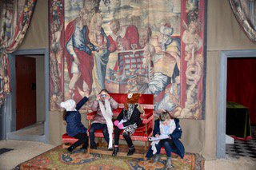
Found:
[{"label": "red robe of the tapestry figure above the checkered table", "polygon": [[[120,36],[120,38],[118,38]],[[114,34],[110,34],[108,38],[110,39],[110,53],[113,53],[116,50],[131,50],[131,45],[136,45],[135,49],[140,49],[139,46],[139,35],[138,29],[136,26],[122,26],[118,31],[118,36]],[[119,44],[122,44],[122,49],[118,48]]]}]

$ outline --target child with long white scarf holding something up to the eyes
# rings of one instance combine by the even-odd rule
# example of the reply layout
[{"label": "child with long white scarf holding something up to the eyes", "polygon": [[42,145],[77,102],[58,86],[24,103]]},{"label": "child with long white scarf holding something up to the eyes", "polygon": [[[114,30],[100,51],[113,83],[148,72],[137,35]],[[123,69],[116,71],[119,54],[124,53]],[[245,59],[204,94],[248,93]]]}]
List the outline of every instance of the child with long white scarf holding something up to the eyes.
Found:
[{"label": "child with long white scarf holding something up to the eyes", "polygon": [[94,132],[98,129],[102,129],[104,138],[108,143],[108,148],[112,149],[113,147],[113,122],[112,122],[112,110],[118,108],[118,102],[114,101],[110,97],[106,89],[102,89],[96,97],[91,109],[97,111],[91,126],[90,126],[90,148],[97,149],[96,143],[94,141]]}]

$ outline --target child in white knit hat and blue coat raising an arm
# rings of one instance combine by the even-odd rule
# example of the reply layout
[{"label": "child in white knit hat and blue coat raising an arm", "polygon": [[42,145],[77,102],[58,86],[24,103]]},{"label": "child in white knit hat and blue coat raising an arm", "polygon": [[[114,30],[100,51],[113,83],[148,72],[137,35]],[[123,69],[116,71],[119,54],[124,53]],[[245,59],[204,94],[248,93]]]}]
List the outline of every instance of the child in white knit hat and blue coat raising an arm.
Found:
[{"label": "child in white knit hat and blue coat raising an arm", "polygon": [[82,108],[82,105],[84,105],[86,101],[88,101],[88,95],[83,97],[82,100],[78,102],[78,105],[75,104],[73,99],[61,103],[61,107],[66,109],[63,115],[66,121],[66,132],[68,136],[78,139],[78,141],[67,148],[69,152],[72,152],[74,148],[77,148],[81,144],[84,151],[86,151],[88,147],[87,128],[82,125],[81,115],[79,113],[79,109]]}]

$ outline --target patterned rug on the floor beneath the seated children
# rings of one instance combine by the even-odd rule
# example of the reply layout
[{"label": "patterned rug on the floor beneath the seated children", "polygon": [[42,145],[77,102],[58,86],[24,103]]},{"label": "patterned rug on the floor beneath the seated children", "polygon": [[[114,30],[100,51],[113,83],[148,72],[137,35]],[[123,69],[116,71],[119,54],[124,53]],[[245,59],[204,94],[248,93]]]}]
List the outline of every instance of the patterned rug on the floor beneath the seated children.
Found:
[{"label": "patterned rug on the floor beneath the seated children", "polygon": [[[31,160],[19,164],[14,169],[165,169],[166,156],[160,162],[153,164],[150,160],[130,157],[113,157],[100,154],[83,153],[77,149],[71,154],[62,146],[42,153]],[[198,154],[186,154],[184,159],[174,157],[173,169],[204,169],[204,160]]]}]

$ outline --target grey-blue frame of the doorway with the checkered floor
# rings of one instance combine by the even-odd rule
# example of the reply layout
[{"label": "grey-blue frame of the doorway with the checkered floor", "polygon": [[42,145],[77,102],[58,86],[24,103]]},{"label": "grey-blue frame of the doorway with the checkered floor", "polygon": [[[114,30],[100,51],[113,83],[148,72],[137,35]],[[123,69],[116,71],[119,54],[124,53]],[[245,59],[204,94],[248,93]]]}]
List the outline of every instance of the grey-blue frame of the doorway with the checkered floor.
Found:
[{"label": "grey-blue frame of the doorway with the checkered floor", "polygon": [[228,57],[256,57],[256,49],[227,50],[221,52],[216,157],[226,158],[226,74]]}]

